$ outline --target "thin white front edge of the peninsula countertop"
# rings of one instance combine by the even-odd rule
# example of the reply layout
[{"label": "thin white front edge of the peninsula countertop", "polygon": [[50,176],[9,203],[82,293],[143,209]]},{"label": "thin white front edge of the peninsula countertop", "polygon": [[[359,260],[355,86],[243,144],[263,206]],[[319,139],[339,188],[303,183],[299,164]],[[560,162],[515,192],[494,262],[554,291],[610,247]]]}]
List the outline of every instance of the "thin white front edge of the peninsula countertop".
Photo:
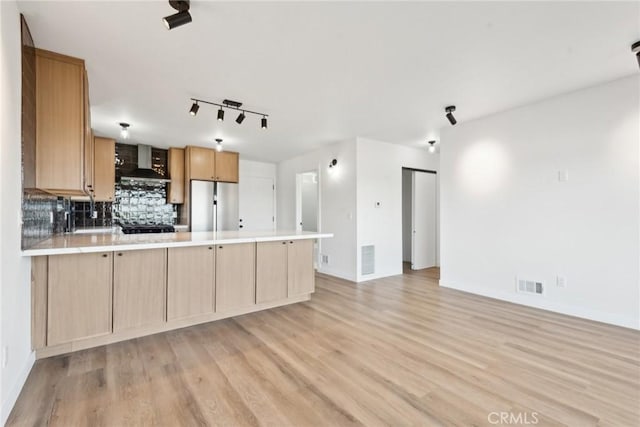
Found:
[{"label": "thin white front edge of the peninsula countertop", "polygon": [[275,236],[259,236],[259,237],[237,237],[237,238],[220,238],[212,240],[198,241],[182,241],[182,242],[150,242],[150,243],[130,243],[130,244],[112,244],[112,245],[96,245],[96,246],[77,246],[50,249],[25,249],[21,251],[21,256],[46,256],[46,255],[69,255],[84,254],[95,252],[116,252],[116,251],[135,251],[143,249],[164,249],[164,248],[180,248],[190,246],[207,246],[222,245],[234,243],[260,243],[273,242],[279,240],[305,240],[305,239],[323,239],[331,238],[333,233],[315,233],[315,234],[282,234]]}]

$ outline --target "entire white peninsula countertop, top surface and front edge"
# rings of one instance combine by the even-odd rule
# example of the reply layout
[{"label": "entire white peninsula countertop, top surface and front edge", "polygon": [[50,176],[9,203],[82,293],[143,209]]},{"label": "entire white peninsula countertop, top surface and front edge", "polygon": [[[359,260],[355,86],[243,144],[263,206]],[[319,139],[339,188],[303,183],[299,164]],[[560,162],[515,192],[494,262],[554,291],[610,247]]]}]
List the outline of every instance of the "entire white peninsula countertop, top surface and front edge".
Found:
[{"label": "entire white peninsula countertop, top surface and front edge", "polygon": [[202,231],[196,233],[82,233],[62,234],[22,251],[23,256],[82,254],[90,252],[134,251],[230,243],[272,242],[277,240],[322,239],[331,233],[308,231]]}]

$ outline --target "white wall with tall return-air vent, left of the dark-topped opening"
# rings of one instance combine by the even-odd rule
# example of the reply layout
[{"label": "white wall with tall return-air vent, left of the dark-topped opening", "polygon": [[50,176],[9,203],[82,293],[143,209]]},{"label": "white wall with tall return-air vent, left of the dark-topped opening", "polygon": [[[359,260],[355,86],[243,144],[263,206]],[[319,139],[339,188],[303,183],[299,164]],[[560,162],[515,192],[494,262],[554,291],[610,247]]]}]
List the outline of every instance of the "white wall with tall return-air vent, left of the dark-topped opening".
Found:
[{"label": "white wall with tall return-air vent, left of the dark-topped opening", "polygon": [[[358,138],[357,281],[402,274],[402,168],[437,171],[438,158],[426,149]],[[375,273],[365,276],[364,245],[376,247]]]}]

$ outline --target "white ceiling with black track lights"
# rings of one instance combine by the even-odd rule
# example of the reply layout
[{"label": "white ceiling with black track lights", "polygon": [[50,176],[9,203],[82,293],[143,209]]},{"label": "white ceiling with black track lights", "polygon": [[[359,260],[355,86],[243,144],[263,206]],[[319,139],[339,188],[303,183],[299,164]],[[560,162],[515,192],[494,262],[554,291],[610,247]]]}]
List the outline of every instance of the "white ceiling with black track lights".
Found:
[{"label": "white ceiling with black track lights", "polygon": [[[21,2],[36,46],[84,58],[96,133],[157,147],[225,140],[278,161],[356,136],[426,146],[459,122],[638,72],[640,2]],[[270,115],[197,117],[190,97]],[[570,114],[570,112],[567,112]]]}]

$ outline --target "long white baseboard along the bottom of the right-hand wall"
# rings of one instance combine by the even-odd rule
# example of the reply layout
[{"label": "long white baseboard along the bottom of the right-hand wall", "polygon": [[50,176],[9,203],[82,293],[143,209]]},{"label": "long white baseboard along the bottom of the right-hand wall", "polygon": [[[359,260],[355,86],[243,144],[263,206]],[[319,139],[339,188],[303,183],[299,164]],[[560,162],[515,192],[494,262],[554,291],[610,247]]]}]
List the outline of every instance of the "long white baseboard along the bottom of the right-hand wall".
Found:
[{"label": "long white baseboard along the bottom of the right-hand wall", "polygon": [[444,283],[442,281],[440,281],[440,286],[442,286],[443,288],[450,288],[468,292],[470,294],[499,299],[501,301],[508,301],[514,304],[525,305],[527,307],[552,311],[554,313],[566,314],[568,316],[580,317],[582,319],[595,320],[596,322],[608,323],[610,325],[640,330],[640,319],[621,316],[616,313],[591,310],[584,307],[557,303],[546,299],[532,300],[531,297],[527,295],[521,295],[516,292],[509,293],[504,291],[497,291],[495,289],[489,289],[481,286],[461,285],[459,283]]}]

